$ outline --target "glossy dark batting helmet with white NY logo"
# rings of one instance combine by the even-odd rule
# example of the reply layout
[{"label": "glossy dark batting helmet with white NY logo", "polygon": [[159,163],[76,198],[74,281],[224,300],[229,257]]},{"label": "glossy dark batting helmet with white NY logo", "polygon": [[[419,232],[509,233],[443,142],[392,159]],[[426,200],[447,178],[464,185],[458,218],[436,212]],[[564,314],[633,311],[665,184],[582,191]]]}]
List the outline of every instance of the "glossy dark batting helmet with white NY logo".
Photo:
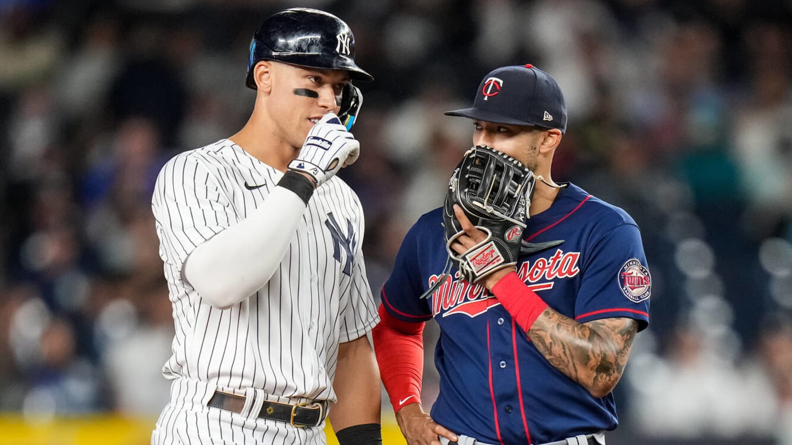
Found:
[{"label": "glossy dark batting helmet with white NY logo", "polygon": [[302,67],[349,71],[349,77],[374,80],[355,64],[355,36],[340,18],[308,8],[272,14],[253,35],[245,85],[256,89],[253,67],[261,60],[276,60]]}]

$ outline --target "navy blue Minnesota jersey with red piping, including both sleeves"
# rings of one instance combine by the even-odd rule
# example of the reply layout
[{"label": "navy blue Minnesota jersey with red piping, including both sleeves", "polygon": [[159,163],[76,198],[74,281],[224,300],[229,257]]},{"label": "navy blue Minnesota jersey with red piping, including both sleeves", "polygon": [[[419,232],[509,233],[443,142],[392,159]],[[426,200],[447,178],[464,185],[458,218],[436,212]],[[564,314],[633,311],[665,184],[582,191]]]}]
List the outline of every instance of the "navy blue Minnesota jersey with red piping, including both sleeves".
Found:
[{"label": "navy blue Minnesota jersey with red piping, including both sleeves", "polygon": [[[428,299],[447,260],[442,208],[409,230],[383,287],[386,310],[402,321],[440,325],[435,365],[440,394],[432,418],[489,443],[544,443],[616,428],[613,395],[593,397],[556,370],[482,285],[456,268]],[[527,220],[531,242],[562,245],[520,257],[517,274],[550,307],[581,323],[600,318],[649,324],[651,279],[634,220],[568,184]]]}]

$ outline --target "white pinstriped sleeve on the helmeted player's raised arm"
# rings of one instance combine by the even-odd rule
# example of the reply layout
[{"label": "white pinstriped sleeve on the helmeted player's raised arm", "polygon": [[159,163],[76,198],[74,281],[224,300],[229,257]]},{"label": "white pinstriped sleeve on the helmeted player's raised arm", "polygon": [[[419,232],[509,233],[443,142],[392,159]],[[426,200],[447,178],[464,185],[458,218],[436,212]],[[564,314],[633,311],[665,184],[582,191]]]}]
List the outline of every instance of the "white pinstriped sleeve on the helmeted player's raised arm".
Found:
[{"label": "white pinstriped sleeve on the helmeted player's raised arm", "polygon": [[180,154],[160,171],[151,200],[160,257],[181,272],[197,246],[238,222],[227,192],[200,158]]}]

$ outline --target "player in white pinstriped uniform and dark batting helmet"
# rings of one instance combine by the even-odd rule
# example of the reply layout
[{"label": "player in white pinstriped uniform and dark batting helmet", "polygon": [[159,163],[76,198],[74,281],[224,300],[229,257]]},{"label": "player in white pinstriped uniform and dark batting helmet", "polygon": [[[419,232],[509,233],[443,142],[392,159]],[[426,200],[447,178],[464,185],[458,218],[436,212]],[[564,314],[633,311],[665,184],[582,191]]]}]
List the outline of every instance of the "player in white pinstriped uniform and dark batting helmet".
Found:
[{"label": "player in white pinstriped uniform and dark batting helmet", "polygon": [[[364,214],[335,173],[372,80],[338,17],[290,9],[253,36],[253,112],[171,159],[152,207],[173,302],[173,380],[151,443],[382,443]],[[339,116],[337,116],[337,114]]]}]

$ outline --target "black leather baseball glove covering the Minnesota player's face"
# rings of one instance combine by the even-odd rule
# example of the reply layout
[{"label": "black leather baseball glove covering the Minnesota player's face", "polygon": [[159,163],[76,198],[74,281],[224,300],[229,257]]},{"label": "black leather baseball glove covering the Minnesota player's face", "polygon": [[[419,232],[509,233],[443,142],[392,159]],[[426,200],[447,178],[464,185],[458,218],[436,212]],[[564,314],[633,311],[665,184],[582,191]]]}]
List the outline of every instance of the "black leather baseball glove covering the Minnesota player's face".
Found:
[{"label": "black leather baseball glove covering the Minnesota player's face", "polygon": [[[489,146],[466,152],[448,181],[443,211],[448,256],[465,280],[476,283],[517,264],[535,181],[520,161]],[[451,249],[451,243],[465,233],[454,215],[454,204],[487,235],[462,255]]]}]

